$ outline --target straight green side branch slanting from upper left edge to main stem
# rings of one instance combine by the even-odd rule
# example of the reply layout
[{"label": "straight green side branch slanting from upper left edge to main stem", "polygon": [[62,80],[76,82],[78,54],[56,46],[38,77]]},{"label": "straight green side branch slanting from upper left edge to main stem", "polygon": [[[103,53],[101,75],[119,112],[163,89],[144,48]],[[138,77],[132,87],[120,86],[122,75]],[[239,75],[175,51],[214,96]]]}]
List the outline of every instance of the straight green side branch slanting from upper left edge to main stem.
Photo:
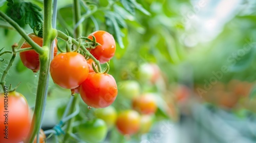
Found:
[{"label": "straight green side branch slanting from upper left edge to main stem", "polygon": [[2,11],[0,11],[0,16],[5,19],[8,23],[10,23],[10,25],[34,48],[34,50],[41,55],[42,53],[44,53],[44,50],[41,49],[41,47],[36,44],[28,35],[27,33],[21,28],[19,27],[19,25],[13,21],[10,17],[8,17],[5,13],[3,13]]}]

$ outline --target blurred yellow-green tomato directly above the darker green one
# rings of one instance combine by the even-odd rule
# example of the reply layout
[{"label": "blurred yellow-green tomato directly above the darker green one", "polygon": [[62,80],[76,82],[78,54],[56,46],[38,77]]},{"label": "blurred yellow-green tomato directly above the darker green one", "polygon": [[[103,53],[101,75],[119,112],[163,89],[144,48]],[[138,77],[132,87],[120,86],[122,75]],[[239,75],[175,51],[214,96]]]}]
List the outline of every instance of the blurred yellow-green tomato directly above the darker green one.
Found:
[{"label": "blurred yellow-green tomato directly above the darker green one", "polygon": [[97,109],[95,111],[95,116],[104,120],[108,129],[111,129],[116,123],[117,112],[113,106],[109,106]]}]

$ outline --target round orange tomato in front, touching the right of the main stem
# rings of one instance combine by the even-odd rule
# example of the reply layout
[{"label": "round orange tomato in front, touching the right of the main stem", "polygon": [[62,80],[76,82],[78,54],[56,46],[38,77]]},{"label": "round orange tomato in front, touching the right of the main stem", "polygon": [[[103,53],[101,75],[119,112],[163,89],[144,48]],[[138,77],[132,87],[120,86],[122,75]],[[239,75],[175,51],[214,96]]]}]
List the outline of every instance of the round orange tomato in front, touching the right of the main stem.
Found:
[{"label": "round orange tomato in front, touching the right of the main stem", "polygon": [[50,65],[53,81],[67,89],[78,87],[86,80],[89,69],[86,59],[79,53],[60,53],[53,58]]}]

